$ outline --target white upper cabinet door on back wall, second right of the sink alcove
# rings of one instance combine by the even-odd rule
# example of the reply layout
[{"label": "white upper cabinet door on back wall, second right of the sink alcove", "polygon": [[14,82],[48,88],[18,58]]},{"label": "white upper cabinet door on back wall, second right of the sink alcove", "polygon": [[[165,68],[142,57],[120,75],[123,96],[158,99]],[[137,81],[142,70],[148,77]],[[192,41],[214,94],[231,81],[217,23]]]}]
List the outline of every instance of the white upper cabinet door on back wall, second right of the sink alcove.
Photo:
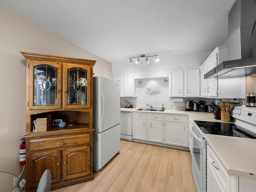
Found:
[{"label": "white upper cabinet door on back wall, second right of the sink alcove", "polygon": [[185,96],[200,97],[200,69],[185,70]]}]

